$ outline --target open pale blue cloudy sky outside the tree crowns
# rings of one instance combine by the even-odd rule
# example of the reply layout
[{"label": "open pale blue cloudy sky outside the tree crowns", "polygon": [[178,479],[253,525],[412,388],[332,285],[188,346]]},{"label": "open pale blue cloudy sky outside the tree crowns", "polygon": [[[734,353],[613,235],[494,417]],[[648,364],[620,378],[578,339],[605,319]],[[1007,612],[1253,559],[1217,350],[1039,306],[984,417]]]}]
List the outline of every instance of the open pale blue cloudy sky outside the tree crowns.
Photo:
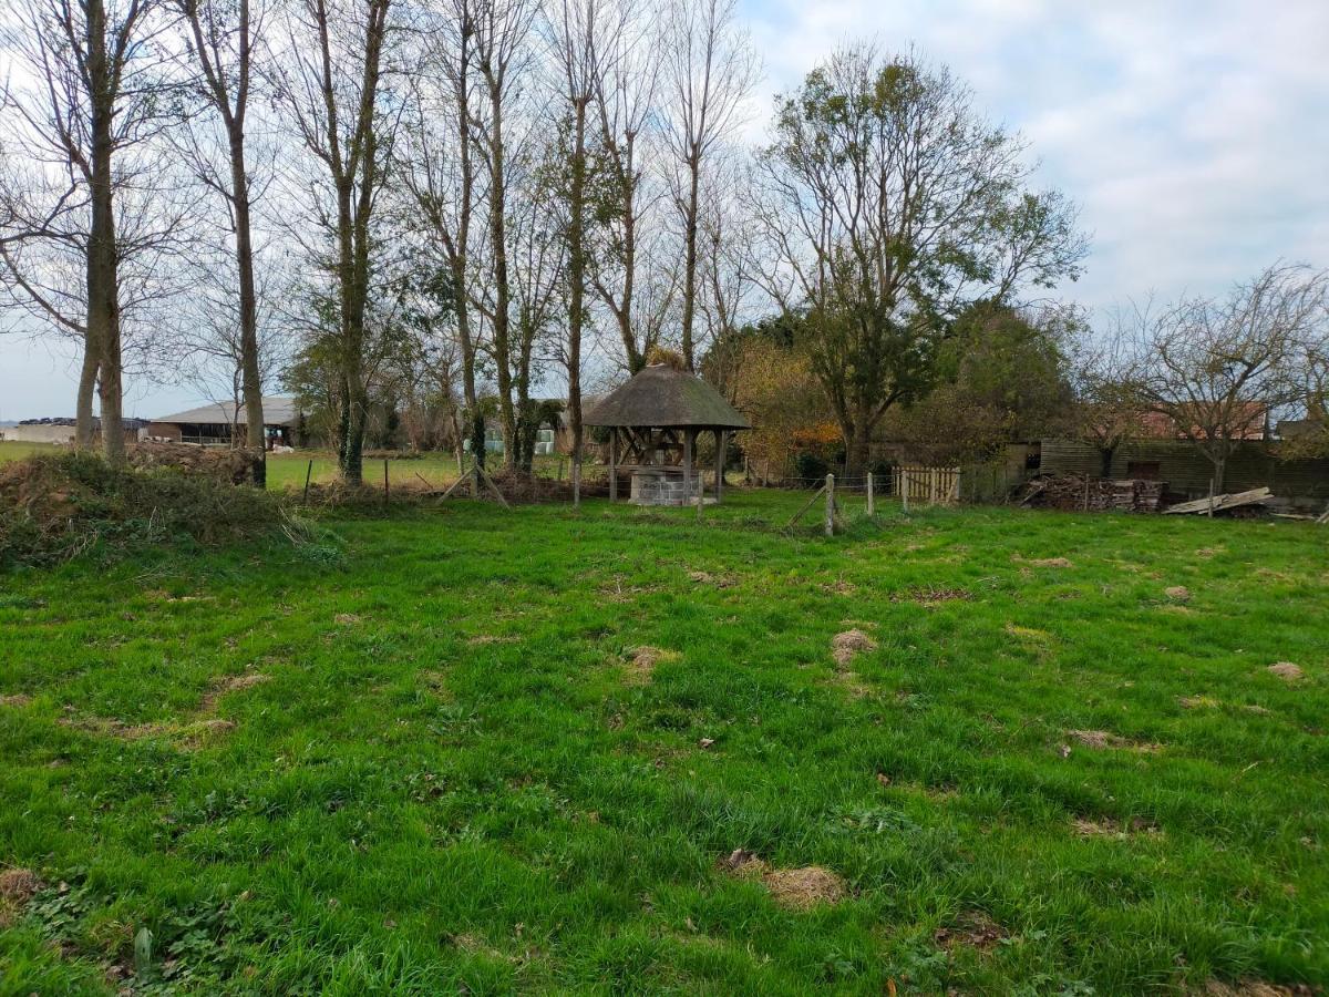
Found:
[{"label": "open pale blue cloudy sky outside the tree crowns", "polygon": [[[764,62],[747,137],[837,45],[948,64],[1018,130],[1037,182],[1080,207],[1086,273],[1059,295],[1104,320],[1221,294],[1277,261],[1329,266],[1329,0],[739,0]],[[0,338],[0,420],[72,415],[77,367]],[[128,413],[197,404],[130,382]]]}]

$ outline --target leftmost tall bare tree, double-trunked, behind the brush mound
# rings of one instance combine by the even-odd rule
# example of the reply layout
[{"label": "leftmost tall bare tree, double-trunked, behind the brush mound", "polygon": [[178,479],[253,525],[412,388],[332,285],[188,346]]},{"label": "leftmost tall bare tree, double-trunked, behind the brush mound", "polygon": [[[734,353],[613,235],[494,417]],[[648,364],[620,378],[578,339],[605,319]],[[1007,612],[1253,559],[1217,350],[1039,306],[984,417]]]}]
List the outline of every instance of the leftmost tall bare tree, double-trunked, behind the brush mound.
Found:
[{"label": "leftmost tall bare tree, double-trunked, behind the brush mound", "polygon": [[[32,167],[25,183],[13,174],[4,181],[0,262],[7,283],[35,314],[81,342],[76,441],[92,443],[96,389],[112,461],[125,451],[120,271],[126,255],[163,239],[145,222],[150,198],[140,190],[130,198],[134,234],[126,242],[124,209],[130,205],[121,203],[126,189],[149,186],[129,153],[162,124],[157,8],[158,0],[20,0],[4,37],[5,51],[32,78],[11,94],[5,114],[17,133],[11,140],[23,145]],[[40,247],[24,253],[33,243],[81,261],[81,294],[72,292],[68,271],[52,278],[28,269],[37,259],[51,262]]]}]

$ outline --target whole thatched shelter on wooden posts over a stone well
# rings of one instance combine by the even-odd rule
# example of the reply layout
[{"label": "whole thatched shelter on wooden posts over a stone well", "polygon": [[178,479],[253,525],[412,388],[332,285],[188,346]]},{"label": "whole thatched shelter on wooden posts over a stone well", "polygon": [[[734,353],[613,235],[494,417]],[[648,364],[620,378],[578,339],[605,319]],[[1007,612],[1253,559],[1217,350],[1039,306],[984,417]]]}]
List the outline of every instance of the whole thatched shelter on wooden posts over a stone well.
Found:
[{"label": "whole thatched shelter on wooden posts over a stone well", "polygon": [[618,498],[618,475],[633,475],[638,505],[691,505],[706,501],[692,467],[696,437],[715,433],[715,498],[724,491],[724,453],[747,419],[695,374],[653,363],[615,388],[583,417],[609,429],[609,498]]}]

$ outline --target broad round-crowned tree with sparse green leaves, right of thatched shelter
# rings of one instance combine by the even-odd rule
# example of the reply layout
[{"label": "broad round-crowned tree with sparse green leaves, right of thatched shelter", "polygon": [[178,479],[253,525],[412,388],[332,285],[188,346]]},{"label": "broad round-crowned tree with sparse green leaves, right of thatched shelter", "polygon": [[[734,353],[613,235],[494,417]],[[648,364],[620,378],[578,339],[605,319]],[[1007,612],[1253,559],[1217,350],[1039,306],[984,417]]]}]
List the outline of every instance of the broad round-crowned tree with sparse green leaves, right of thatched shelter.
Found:
[{"label": "broad round-crowned tree with sparse green leaves, right of thatched shelter", "polygon": [[890,405],[932,386],[968,304],[1076,275],[1074,207],[1026,191],[1023,153],[945,68],[872,47],[836,52],[777,102],[759,169],[764,283],[807,319],[852,468]]}]

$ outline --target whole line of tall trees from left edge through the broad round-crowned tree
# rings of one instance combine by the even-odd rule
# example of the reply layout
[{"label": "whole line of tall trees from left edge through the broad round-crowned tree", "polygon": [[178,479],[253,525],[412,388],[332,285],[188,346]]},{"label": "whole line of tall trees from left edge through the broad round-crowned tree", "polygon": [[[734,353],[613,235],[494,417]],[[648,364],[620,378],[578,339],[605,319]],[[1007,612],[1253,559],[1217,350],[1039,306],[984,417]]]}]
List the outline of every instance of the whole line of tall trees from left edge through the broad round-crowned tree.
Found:
[{"label": "whole line of tall trees from left edge through the broad round-crowned tree", "polygon": [[529,469],[549,384],[578,475],[586,386],[659,348],[803,378],[856,468],[1003,362],[1026,408],[1100,386],[1049,300],[1074,203],[914,52],[843,45],[754,140],[735,0],[16,0],[0,44],[0,294],[77,344],[80,445],[126,372],[219,386],[249,440],[282,382],[350,483],[384,412]]}]

